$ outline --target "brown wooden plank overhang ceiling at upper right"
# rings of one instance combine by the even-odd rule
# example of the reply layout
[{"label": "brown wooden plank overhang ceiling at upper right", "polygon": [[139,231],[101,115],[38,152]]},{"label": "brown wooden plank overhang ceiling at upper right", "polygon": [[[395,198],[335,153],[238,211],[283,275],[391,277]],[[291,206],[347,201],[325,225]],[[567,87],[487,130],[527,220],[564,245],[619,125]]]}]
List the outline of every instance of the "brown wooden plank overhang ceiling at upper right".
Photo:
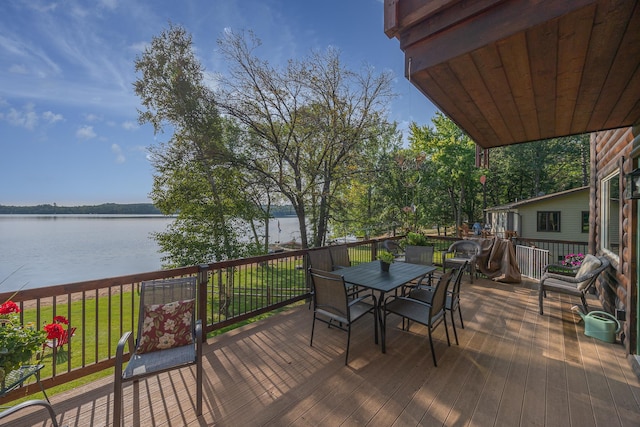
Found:
[{"label": "brown wooden plank overhang ceiling at upper right", "polygon": [[640,123],[637,0],[385,0],[384,24],[483,148]]}]

